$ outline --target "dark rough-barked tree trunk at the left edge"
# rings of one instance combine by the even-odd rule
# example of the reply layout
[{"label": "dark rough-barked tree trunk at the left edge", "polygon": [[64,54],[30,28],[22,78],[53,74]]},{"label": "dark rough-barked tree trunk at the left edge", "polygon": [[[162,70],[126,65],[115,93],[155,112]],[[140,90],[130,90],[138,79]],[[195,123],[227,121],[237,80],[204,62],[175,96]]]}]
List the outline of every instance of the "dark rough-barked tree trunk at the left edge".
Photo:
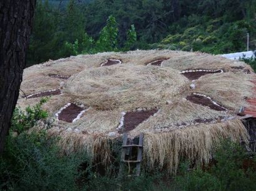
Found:
[{"label": "dark rough-barked tree trunk at the left edge", "polygon": [[36,0],[0,1],[0,154],[19,96]]}]

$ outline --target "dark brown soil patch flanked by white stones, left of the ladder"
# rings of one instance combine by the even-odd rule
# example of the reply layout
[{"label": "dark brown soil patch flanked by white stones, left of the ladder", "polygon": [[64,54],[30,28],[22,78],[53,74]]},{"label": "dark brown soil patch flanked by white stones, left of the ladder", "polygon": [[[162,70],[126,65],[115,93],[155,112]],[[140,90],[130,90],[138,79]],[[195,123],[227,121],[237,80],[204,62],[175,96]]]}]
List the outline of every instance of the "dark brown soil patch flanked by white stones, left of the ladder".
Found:
[{"label": "dark brown soil patch flanked by white stones, left of the ladder", "polygon": [[72,123],[74,119],[76,119],[77,115],[81,113],[83,109],[74,103],[71,103],[66,109],[63,109],[59,114],[59,120],[66,121],[68,123]]}]

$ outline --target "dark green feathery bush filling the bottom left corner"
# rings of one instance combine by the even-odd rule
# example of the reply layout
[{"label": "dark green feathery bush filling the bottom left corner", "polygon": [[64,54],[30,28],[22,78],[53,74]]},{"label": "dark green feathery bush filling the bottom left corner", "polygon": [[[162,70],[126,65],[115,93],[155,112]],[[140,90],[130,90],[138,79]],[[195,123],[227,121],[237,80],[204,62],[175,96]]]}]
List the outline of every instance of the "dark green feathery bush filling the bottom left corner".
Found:
[{"label": "dark green feathery bush filling the bottom left corner", "polygon": [[76,190],[82,154],[60,156],[57,139],[44,131],[9,136],[0,157],[0,189]]}]

